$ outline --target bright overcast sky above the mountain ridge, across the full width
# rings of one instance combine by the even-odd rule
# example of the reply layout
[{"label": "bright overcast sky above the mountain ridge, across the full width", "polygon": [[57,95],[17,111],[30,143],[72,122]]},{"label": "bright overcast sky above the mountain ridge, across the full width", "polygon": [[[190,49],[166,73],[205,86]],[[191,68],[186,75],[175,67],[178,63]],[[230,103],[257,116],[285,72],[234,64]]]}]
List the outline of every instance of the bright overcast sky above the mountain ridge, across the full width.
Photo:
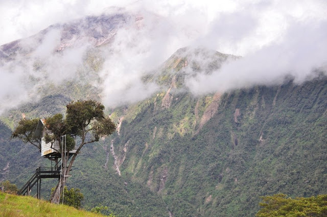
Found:
[{"label": "bright overcast sky above the mountain ridge, across the full width", "polygon": [[181,31],[189,31],[189,37],[198,43],[211,43],[216,50],[236,55],[282,40],[296,21],[318,23],[327,18],[324,0],[3,0],[0,44],[36,34],[57,22],[101,14],[112,6],[143,8],[171,17],[181,22]]}]

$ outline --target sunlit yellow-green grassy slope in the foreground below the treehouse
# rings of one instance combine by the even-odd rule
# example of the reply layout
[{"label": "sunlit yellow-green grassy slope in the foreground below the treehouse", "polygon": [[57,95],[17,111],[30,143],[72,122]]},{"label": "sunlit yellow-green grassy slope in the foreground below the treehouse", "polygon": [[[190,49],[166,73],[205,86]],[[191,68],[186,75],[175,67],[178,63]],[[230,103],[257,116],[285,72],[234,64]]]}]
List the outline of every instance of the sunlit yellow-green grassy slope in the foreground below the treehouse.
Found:
[{"label": "sunlit yellow-green grassy slope in the foreground below the treehouse", "polygon": [[29,217],[29,216],[67,216],[67,217],[99,217],[101,214],[78,210],[71,206],[51,204],[27,196],[15,196],[0,192],[0,216],[2,217]]}]

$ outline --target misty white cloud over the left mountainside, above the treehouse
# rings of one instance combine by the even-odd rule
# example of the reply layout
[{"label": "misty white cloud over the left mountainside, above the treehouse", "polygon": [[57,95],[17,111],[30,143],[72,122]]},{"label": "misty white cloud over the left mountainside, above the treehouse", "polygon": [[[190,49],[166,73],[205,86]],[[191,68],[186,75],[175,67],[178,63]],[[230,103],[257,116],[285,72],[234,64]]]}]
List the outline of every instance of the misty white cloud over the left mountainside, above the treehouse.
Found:
[{"label": "misty white cloud over the left mountainside, above the treehouse", "polygon": [[90,45],[76,44],[59,52],[61,32],[61,28],[54,28],[41,37],[20,40],[18,52],[11,54],[14,59],[2,62],[0,114],[21,103],[37,101],[48,85],[58,86],[74,79],[78,82]]}]

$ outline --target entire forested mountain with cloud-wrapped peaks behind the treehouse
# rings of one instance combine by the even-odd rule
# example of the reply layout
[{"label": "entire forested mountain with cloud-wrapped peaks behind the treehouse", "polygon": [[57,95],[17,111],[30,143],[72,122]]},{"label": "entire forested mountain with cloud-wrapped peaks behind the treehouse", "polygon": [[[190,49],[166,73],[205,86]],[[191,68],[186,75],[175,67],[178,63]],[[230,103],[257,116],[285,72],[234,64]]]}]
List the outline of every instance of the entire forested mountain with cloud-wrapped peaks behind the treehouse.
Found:
[{"label": "entire forested mountain with cloud-wrapped peaks behind the treehouse", "polygon": [[[63,50],[55,50],[54,55],[64,56],[65,49],[79,40],[91,38],[92,46],[85,50],[76,74],[59,85],[46,79],[55,76],[47,67],[50,61],[42,59],[39,67],[31,69],[35,77],[28,82],[37,90],[29,89],[26,103],[1,116],[0,168],[4,170],[0,179],[19,187],[36,167],[51,164],[32,146],[9,139],[19,118],[63,112],[72,100],[102,99],[103,87],[98,83],[104,81],[99,75],[110,59],[104,51],[115,41],[111,33],[125,28],[125,16],[103,15],[76,26],[63,25],[69,28],[60,29],[61,37],[67,36],[54,46]],[[78,30],[81,26],[83,31]],[[91,34],[98,29],[101,34]],[[88,34],[82,37],[81,32]],[[107,40],[109,35],[114,36]],[[36,61],[35,51],[26,52],[20,47],[24,43],[12,43],[2,46],[7,54],[2,64]],[[190,78],[211,74],[239,58],[184,47],[156,69],[143,72],[142,83],[155,84],[156,91],[137,103],[109,107],[118,131],[85,146],[75,162],[67,185],[81,188],[84,208],[101,204],[119,216],[253,216],[260,196],[327,194],[327,78],[322,74],[302,84],[289,78],[275,86],[206,95],[194,95],[185,85]],[[38,71],[46,77],[37,77]],[[121,92],[120,97],[126,95]],[[44,199],[53,186],[54,180],[42,182]]]}]

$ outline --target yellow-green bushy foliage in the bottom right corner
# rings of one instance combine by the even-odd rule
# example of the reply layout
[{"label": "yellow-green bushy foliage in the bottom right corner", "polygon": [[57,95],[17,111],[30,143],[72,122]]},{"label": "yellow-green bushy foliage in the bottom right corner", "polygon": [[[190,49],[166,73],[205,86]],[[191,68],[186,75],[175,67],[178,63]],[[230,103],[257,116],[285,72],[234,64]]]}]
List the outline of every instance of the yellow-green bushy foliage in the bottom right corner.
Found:
[{"label": "yellow-green bushy foliage in the bottom right corner", "polygon": [[262,207],[256,216],[327,216],[327,195],[318,195],[310,198],[288,198],[287,195],[277,194],[273,196],[261,197]]}]

